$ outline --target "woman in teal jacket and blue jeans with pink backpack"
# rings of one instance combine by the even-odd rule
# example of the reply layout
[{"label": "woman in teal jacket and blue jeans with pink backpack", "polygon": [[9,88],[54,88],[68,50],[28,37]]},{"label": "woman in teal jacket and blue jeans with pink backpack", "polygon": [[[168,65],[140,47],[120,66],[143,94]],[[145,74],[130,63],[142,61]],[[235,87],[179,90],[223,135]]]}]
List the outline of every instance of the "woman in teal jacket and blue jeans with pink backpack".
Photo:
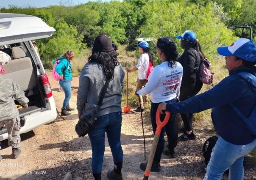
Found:
[{"label": "woman in teal jacket and blue jeans with pink backpack", "polygon": [[[63,105],[61,108],[61,115],[67,116],[71,115],[68,111],[73,111],[75,109],[71,108],[69,105],[69,101],[72,95],[71,92],[71,81],[72,81],[72,66],[70,63],[70,60],[72,60],[75,57],[75,53],[73,51],[67,51],[65,54],[58,58],[60,62],[58,65],[56,65],[56,72],[58,75],[61,76],[61,79],[59,80],[59,85],[64,90],[65,98],[63,101]],[[56,60],[53,61],[53,64],[55,64]]]}]

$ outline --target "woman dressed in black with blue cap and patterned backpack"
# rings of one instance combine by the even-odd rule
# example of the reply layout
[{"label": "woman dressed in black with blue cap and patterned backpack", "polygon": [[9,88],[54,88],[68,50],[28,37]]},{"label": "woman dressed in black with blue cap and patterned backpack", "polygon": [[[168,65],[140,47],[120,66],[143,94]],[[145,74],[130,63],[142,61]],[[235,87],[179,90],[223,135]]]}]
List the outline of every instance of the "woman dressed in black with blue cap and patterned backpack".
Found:
[{"label": "woman dressed in black with blue cap and patterned backpack", "polygon": [[[199,66],[201,60],[205,57],[193,31],[186,30],[182,35],[176,36],[176,38],[181,39],[181,48],[184,49],[183,54],[178,58],[178,62],[183,67],[179,100],[184,101],[196,95],[203,86],[203,83],[200,81]],[[184,124],[182,129],[184,134],[179,136],[178,140],[187,141],[195,139],[196,136],[192,130],[193,113],[181,113],[181,118]]]}]

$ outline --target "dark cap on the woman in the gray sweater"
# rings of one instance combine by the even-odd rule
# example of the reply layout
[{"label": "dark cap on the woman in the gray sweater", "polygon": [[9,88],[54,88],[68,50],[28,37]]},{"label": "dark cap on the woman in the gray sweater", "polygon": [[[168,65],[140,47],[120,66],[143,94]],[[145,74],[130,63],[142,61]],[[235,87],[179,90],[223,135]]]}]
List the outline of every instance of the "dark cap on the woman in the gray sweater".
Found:
[{"label": "dark cap on the woman in the gray sweater", "polygon": [[95,38],[93,42],[93,47],[98,51],[103,51],[103,52],[111,52],[114,50],[111,40],[105,34],[101,34],[97,36],[97,38]]}]

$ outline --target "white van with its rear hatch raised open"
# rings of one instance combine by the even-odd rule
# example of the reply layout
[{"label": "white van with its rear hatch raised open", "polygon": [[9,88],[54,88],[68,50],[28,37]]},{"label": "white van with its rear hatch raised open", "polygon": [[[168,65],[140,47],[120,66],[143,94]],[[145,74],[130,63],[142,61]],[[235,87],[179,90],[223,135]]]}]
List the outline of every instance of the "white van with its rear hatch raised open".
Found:
[{"label": "white van with its rear hatch raised open", "polygon": [[[50,37],[54,31],[38,17],[0,13],[0,51],[11,56],[11,60],[3,65],[5,78],[13,79],[30,101],[28,109],[19,109],[20,134],[50,123],[57,116],[48,77],[31,43]],[[7,138],[6,128],[0,127],[0,141]]]}]

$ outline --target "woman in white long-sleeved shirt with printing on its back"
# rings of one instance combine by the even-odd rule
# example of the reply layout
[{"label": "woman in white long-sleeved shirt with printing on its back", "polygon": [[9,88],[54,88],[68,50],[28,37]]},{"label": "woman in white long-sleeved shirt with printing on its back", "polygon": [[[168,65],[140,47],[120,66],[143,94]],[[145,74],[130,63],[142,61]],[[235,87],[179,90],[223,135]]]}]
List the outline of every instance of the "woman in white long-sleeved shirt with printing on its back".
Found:
[{"label": "woman in white long-sleeved shirt with printing on its back", "polygon": [[[151,109],[150,117],[153,128],[153,133],[156,132],[156,110],[161,102],[172,104],[177,102],[178,93],[181,87],[181,79],[183,68],[177,62],[177,47],[170,37],[161,37],[156,45],[157,55],[161,60],[161,64],[157,65],[149,76],[149,81],[146,86],[138,90],[139,95],[151,93]],[[161,120],[164,120],[164,115]],[[161,130],[159,142],[156,147],[151,172],[159,172],[161,170],[160,159],[164,150],[164,131],[168,139],[168,155],[175,158],[175,147],[177,145],[177,133],[174,128],[175,114],[172,114],[167,125]],[[145,171],[147,163],[141,163],[140,169]]]}]

